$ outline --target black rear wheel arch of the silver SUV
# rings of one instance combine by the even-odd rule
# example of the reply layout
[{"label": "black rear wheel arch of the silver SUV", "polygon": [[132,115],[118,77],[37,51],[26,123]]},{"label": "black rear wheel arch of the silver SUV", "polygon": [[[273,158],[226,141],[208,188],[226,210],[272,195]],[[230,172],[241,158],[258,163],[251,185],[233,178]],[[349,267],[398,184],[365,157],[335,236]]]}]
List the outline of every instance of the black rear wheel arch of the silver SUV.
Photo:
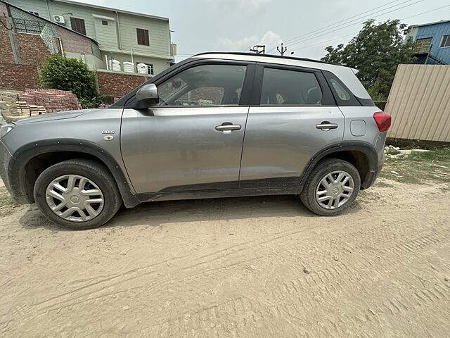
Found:
[{"label": "black rear wheel arch of the silver SUV", "polygon": [[339,158],[352,163],[361,177],[361,189],[370,187],[378,174],[378,156],[371,144],[367,142],[344,142],[321,149],[311,158],[303,172],[301,187],[304,186],[316,164],[324,158]]}]

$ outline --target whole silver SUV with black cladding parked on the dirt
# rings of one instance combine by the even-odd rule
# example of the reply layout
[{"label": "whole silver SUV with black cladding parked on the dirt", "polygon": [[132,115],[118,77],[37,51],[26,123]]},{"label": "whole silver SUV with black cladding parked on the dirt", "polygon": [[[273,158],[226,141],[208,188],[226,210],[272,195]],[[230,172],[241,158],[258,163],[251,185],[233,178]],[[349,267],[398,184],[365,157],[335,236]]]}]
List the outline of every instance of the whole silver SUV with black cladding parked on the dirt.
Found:
[{"label": "whole silver SUV with black cladding parked on the dirt", "polygon": [[15,201],[75,229],[122,204],[226,196],[295,194],[336,215],[373,184],[389,127],[351,68],[207,53],[107,109],[1,127],[0,173]]}]

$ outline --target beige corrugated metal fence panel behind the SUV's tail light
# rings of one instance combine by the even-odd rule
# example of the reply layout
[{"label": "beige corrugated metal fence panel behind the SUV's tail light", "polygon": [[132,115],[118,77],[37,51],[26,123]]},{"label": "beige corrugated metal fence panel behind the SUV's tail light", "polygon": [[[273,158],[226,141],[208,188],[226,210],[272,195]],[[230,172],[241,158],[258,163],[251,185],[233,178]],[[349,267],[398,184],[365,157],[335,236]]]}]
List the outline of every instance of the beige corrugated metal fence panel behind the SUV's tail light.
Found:
[{"label": "beige corrugated metal fence panel behind the SUV's tail light", "polygon": [[387,137],[450,142],[450,65],[399,65],[385,111]]}]

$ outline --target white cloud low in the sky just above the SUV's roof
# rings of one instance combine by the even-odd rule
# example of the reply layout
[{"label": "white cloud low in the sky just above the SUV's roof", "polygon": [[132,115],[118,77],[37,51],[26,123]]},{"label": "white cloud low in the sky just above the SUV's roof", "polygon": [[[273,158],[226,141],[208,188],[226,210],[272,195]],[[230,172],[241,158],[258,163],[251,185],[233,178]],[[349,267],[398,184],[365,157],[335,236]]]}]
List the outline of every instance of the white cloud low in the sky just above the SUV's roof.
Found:
[{"label": "white cloud low in the sky just above the SUV's roof", "polygon": [[243,39],[233,41],[232,39],[222,37],[217,40],[216,49],[218,51],[248,51],[250,46],[265,44],[266,51],[269,51],[270,49],[276,48],[280,43],[281,37],[269,30],[261,38],[257,35],[252,35],[251,37],[244,37]]}]

